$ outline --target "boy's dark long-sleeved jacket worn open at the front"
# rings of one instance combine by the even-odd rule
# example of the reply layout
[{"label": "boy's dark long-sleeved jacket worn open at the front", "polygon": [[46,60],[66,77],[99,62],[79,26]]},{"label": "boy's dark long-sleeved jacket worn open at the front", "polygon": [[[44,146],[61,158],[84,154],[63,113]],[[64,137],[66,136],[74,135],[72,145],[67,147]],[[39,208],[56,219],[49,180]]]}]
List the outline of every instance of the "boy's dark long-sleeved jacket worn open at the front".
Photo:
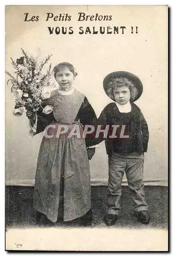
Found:
[{"label": "boy's dark long-sleeved jacket worn open at the front", "polygon": [[[148,125],[139,107],[134,102],[131,102],[131,105],[132,105],[132,110],[134,115],[135,134],[137,137],[136,148],[137,148],[137,152],[141,155],[142,153],[147,151],[147,145],[148,145],[148,139],[149,139]],[[106,124],[112,125],[112,124],[115,124],[116,122],[118,123],[118,116],[116,115],[117,111],[118,111],[118,108],[114,102],[108,104],[107,106],[105,106],[105,108],[101,112],[97,120],[97,124],[100,124],[102,125],[102,127],[104,127],[104,125]],[[111,138],[104,139],[103,137],[98,138],[98,139],[95,139],[95,144],[98,144],[103,140],[105,140],[107,154],[109,156],[112,156],[113,139]]]}]

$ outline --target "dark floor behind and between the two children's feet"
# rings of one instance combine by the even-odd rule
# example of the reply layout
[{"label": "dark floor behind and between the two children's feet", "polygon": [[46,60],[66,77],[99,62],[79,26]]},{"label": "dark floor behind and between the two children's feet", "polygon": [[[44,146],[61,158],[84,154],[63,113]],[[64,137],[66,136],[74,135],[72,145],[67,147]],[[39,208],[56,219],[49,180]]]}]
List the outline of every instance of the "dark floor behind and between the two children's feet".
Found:
[{"label": "dark floor behind and between the two children's feet", "polygon": [[[92,186],[92,208],[95,227],[105,227],[103,216],[106,211],[105,203],[106,187]],[[148,203],[150,223],[143,225],[139,223],[133,212],[127,186],[122,186],[121,215],[117,220],[116,227],[127,228],[161,228],[168,227],[168,188],[165,186],[145,186],[145,196]],[[6,230],[10,227],[35,227],[35,210],[33,203],[33,187],[7,186],[6,187]],[[60,227],[78,227],[75,220],[69,223],[58,221],[54,224]],[[112,226],[110,228],[114,228]]]}]

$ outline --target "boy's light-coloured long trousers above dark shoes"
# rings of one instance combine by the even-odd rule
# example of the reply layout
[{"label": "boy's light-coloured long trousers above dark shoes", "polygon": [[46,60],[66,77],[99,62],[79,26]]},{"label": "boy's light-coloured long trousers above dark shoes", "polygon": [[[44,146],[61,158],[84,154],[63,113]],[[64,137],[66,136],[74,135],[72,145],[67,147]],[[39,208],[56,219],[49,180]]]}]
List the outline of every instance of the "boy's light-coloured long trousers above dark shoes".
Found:
[{"label": "boy's light-coloured long trousers above dark shoes", "polygon": [[134,202],[134,211],[147,210],[143,185],[144,155],[132,153],[109,157],[109,184],[107,188],[107,214],[119,215],[121,183],[124,172]]}]

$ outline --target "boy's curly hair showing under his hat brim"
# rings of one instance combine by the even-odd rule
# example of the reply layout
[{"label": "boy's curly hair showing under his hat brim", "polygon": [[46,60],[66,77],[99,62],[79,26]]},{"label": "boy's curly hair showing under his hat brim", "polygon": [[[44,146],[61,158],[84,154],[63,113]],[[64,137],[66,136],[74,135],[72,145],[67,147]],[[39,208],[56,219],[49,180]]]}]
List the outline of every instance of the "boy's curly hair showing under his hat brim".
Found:
[{"label": "boy's curly hair showing under his hat brim", "polygon": [[109,90],[107,92],[111,95],[113,95],[113,89],[120,88],[123,86],[126,86],[130,93],[131,93],[131,98],[134,100],[138,94],[138,89],[134,84],[132,83],[131,80],[128,80],[126,77],[120,77],[120,78],[115,78],[112,79],[107,86],[109,87]]}]

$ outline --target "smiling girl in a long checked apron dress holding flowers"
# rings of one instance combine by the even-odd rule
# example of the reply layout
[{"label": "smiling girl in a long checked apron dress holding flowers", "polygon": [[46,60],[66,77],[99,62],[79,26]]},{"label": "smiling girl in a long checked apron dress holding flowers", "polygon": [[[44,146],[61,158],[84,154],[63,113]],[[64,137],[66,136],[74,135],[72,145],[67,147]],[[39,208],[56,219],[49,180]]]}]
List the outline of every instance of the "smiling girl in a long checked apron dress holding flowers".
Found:
[{"label": "smiling girl in a long checked apron dress holding flowers", "polygon": [[[27,112],[32,124],[36,122],[36,133],[45,133],[39,150],[35,175],[34,208],[37,210],[37,222],[41,214],[51,222],[63,214],[63,221],[72,221],[82,217],[83,225],[93,226],[91,210],[91,185],[89,159],[95,148],[89,148],[91,138],[60,134],[58,125],[66,124],[72,131],[77,124],[80,133],[86,124],[94,124],[95,112],[84,96],[74,88],[77,73],[68,62],[59,63],[54,68],[54,77],[59,88],[44,100],[44,106],[50,114]],[[48,135],[49,134],[49,135]],[[52,136],[50,136],[50,134]],[[47,136],[46,136],[47,135]]]}]

